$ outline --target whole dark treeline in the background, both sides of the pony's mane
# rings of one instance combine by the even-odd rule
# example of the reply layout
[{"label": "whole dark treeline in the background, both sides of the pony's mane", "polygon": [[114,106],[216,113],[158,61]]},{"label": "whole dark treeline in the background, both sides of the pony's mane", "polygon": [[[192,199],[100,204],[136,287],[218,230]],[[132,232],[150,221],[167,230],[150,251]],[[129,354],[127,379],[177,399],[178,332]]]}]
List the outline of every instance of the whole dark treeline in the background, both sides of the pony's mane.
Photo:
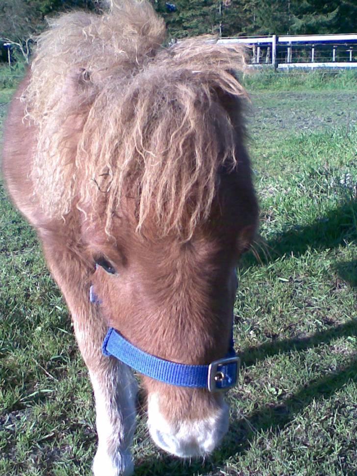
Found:
[{"label": "whole dark treeline in the background, both sides of the pony's mane", "polygon": [[[357,31],[356,0],[150,1],[174,38],[205,33],[249,36]],[[28,61],[28,39],[46,26],[46,15],[72,8],[100,11],[101,5],[101,0],[0,0],[0,47],[10,42],[12,52]],[[0,48],[1,52],[6,59],[5,49]]]}]

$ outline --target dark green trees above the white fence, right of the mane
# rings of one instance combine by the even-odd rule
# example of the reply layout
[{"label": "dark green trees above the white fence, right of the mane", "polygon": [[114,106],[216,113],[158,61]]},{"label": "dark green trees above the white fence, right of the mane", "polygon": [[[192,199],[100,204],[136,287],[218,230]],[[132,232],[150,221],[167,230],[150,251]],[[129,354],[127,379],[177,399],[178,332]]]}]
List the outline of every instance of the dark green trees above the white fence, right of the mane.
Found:
[{"label": "dark green trees above the white fence, right of the mane", "polygon": [[221,36],[353,33],[356,0],[151,0],[179,38],[203,33]]}]

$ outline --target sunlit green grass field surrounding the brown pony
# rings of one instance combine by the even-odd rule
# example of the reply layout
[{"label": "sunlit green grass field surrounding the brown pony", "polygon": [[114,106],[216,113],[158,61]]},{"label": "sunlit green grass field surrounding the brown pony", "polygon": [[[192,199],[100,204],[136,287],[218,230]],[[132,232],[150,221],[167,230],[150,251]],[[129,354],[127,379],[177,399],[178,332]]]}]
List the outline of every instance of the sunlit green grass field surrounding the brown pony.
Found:
[{"label": "sunlit green grass field surrounding the brown pony", "polygon": [[[137,476],[357,475],[356,78],[269,81],[248,84],[265,245],[239,269],[229,434],[182,462],[153,446],[142,412]],[[0,251],[0,476],[90,475],[87,371],[36,237],[2,189]]]}]

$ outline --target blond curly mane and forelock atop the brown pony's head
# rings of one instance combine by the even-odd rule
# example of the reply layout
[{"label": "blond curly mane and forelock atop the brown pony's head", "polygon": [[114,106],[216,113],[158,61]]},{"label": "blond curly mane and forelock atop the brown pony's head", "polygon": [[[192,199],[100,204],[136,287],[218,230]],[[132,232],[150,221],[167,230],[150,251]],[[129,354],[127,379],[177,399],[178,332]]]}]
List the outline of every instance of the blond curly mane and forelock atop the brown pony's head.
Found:
[{"label": "blond curly mane and forelock atop the brown pony's head", "polygon": [[[38,39],[26,116],[38,128],[35,194],[51,216],[98,210],[106,229],[123,197],[137,229],[192,235],[208,217],[222,165],[237,163],[245,67],[237,45],[198,37],[164,48],[165,26],[146,1],[52,19]],[[234,103],[234,114],[229,112]]]}]

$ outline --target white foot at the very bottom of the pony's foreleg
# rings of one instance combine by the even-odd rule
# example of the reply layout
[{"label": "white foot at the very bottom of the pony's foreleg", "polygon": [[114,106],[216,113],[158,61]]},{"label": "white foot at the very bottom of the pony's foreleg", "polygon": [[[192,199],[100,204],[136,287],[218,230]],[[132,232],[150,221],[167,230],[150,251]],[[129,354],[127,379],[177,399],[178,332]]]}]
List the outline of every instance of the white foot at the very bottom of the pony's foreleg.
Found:
[{"label": "white foot at the very bottom of the pony's foreleg", "polygon": [[130,452],[110,455],[105,450],[97,450],[93,460],[94,476],[131,476],[133,473],[134,463]]}]

